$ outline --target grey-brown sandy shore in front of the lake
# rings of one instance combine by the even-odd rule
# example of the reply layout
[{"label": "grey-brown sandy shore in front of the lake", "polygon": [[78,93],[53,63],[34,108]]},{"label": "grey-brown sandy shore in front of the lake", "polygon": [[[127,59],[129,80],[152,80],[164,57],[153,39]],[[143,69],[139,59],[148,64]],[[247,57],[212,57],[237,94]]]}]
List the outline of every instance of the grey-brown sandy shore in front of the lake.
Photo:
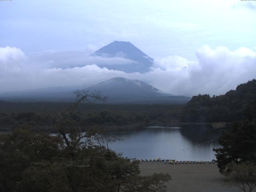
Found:
[{"label": "grey-brown sandy shore in front of the lake", "polygon": [[166,184],[168,192],[240,192],[225,185],[216,164],[164,164],[140,162],[142,175],[168,173],[172,180]]}]

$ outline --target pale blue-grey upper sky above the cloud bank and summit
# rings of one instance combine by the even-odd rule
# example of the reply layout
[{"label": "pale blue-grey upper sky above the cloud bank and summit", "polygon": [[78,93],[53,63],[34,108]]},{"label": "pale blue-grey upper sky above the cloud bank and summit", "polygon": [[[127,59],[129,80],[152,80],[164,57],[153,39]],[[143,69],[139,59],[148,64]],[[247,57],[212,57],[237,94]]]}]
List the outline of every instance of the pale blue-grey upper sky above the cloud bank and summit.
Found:
[{"label": "pale blue-grey upper sky above the cloud bank and summit", "polygon": [[0,47],[26,54],[96,50],[130,41],[151,57],[195,59],[202,45],[255,46],[256,2],[240,0],[12,0],[0,2]]}]

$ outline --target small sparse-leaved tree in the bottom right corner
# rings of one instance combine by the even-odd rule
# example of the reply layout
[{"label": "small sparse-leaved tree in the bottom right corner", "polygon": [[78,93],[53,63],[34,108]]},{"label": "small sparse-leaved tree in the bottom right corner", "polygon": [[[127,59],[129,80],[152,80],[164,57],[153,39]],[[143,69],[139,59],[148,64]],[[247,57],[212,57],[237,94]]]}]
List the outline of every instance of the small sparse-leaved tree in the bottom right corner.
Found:
[{"label": "small sparse-leaved tree in the bottom right corner", "polygon": [[233,165],[227,180],[244,192],[252,192],[256,187],[256,165],[242,163]]}]

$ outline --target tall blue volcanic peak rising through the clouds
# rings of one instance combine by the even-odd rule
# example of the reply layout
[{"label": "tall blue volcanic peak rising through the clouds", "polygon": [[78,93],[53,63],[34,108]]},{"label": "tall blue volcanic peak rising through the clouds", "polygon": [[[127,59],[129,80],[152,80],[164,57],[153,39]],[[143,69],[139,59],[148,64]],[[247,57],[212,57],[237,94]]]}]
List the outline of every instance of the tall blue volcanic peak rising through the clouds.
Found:
[{"label": "tall blue volcanic peak rising through the clouds", "polygon": [[101,65],[112,70],[121,70],[124,72],[147,72],[152,65],[153,59],[138,49],[130,42],[114,41],[92,54],[104,58],[124,58],[132,60],[129,64]]}]

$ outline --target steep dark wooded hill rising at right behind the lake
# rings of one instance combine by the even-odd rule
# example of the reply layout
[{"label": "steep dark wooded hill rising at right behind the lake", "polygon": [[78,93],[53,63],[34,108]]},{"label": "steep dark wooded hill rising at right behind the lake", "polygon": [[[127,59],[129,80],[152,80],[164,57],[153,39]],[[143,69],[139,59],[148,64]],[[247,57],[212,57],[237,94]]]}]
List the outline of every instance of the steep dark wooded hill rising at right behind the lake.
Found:
[{"label": "steep dark wooded hill rising at right behind the lake", "polygon": [[256,80],[240,84],[225,95],[198,95],[184,106],[182,122],[233,122],[256,117]]}]

